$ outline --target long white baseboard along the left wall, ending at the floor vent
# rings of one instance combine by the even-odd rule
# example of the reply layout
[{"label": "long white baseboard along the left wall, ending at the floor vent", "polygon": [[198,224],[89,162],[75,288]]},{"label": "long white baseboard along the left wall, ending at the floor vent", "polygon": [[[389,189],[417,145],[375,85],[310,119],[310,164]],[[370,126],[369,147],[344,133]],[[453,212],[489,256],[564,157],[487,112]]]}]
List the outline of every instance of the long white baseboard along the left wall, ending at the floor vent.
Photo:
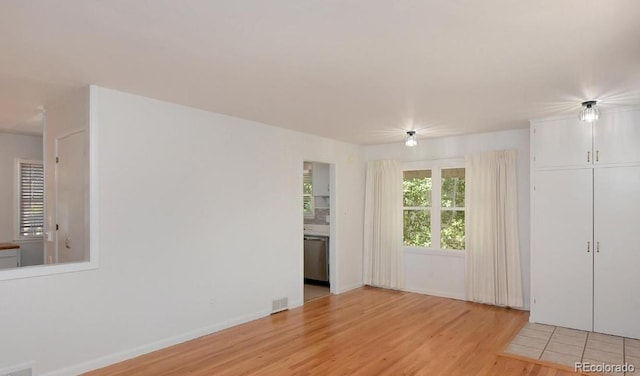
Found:
[{"label": "long white baseboard along the left wall, ending at the floor vent", "polygon": [[95,370],[98,368],[106,367],[108,365],[119,363],[128,359],[135,358],[140,355],[148,354],[153,351],[157,351],[169,346],[177,345],[182,342],[186,342],[198,337],[205,336],[207,334],[219,332],[221,330],[230,328],[232,326],[244,324],[249,321],[257,320],[262,317],[269,316],[270,311],[256,312],[250,315],[245,315],[232,320],[222,322],[220,324],[204,327],[201,329],[192,330],[190,332],[180,334],[177,336],[169,337],[149,343],[146,345],[138,346],[129,350],[121,351],[115,354],[106,355],[97,359],[93,359],[87,362],[76,364],[73,366],[65,367],[59,370],[44,373],[44,376],[74,376],[84,372]]}]

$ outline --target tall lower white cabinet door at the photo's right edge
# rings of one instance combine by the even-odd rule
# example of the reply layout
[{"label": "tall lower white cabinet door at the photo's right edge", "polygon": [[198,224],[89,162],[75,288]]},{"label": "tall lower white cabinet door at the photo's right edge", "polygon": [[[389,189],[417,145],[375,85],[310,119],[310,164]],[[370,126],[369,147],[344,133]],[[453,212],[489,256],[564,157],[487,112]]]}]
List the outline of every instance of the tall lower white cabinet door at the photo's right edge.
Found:
[{"label": "tall lower white cabinet door at the photo's right edge", "polygon": [[640,338],[640,167],[594,170],[596,332]]}]

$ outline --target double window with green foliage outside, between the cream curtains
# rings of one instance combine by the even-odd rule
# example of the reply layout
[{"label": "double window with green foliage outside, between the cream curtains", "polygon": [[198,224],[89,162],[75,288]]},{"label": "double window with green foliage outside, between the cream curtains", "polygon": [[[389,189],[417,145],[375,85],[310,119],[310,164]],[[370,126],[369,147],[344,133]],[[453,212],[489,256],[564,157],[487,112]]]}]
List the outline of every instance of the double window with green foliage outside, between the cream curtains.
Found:
[{"label": "double window with green foliage outside, between the cream curtains", "polygon": [[463,167],[404,171],[404,245],[464,250]]}]

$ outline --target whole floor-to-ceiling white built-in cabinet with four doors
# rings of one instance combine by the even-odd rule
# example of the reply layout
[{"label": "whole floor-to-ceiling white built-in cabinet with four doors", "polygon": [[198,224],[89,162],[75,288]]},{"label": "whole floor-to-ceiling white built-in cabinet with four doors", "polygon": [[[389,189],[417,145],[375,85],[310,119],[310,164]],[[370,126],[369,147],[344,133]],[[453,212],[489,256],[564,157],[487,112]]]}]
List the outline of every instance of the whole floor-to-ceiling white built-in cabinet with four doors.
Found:
[{"label": "whole floor-to-ceiling white built-in cabinet with four doors", "polygon": [[640,338],[638,115],[532,122],[532,321]]}]

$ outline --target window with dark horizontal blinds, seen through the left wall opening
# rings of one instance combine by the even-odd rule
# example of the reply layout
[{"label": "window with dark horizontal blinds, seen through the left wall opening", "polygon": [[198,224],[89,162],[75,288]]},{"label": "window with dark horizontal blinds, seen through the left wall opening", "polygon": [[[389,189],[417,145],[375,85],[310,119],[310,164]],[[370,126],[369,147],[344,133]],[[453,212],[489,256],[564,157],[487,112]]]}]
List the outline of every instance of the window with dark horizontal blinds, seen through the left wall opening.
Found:
[{"label": "window with dark horizontal blinds, seen through the left wall opening", "polygon": [[16,161],[18,239],[44,234],[44,169],[41,161]]}]

